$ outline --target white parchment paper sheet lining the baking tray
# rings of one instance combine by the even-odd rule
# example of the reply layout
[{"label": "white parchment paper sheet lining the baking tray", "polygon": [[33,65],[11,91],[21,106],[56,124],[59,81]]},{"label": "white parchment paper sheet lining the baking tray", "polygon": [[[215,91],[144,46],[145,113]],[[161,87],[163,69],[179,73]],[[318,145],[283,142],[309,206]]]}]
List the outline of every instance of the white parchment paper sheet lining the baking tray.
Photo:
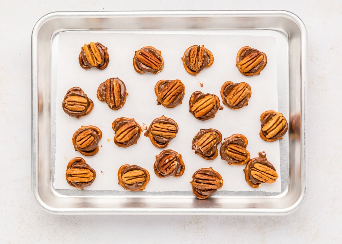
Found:
[{"label": "white parchment paper sheet lining the baking tray", "polygon": [[[78,55],[84,43],[100,42],[108,47],[110,62],[106,69],[84,70],[79,66]],[[184,51],[191,45],[203,44],[214,55],[211,67],[202,70],[197,76],[188,74],[181,60]],[[132,59],[134,52],[143,46],[154,46],[161,51],[164,69],[158,74],[135,72]],[[237,67],[236,53],[245,45],[259,49],[267,55],[267,65],[259,76],[242,75]],[[145,191],[186,191],[191,190],[189,181],[193,173],[201,167],[212,167],[224,181],[221,190],[228,191],[269,191],[281,192],[279,142],[267,143],[259,137],[260,114],[265,110],[278,110],[276,39],[270,36],[241,35],[180,35],[180,34],[136,34],[103,32],[61,32],[59,34],[58,75],[56,91],[56,155],[55,189],[75,189],[65,180],[66,166],[74,157],[82,157],[96,171],[96,180],[86,189],[124,190],[118,185],[117,171],[122,164],[137,164],[150,173],[150,182]],[[119,77],[125,82],[129,93],[126,104],[119,110],[108,108],[96,97],[98,86],[107,78]],[[185,85],[183,104],[173,109],[156,105],[154,86],[159,80],[180,79]],[[189,113],[189,97],[194,91],[212,93],[222,98],[220,89],[227,81],[247,82],[252,87],[249,105],[232,110],[225,105],[214,119],[196,120]],[[203,83],[203,87],[200,86]],[[93,111],[80,119],[69,117],[62,109],[62,101],[68,89],[81,87],[94,102]],[[165,149],[173,149],[182,154],[185,172],[179,178],[158,178],[153,171],[155,156],[163,149],[152,145],[143,133],[137,144],[119,148],[113,142],[114,131],[111,123],[119,117],[134,118],[143,127],[162,115],[174,119],[179,125],[179,133]],[[74,150],[71,137],[81,125],[95,125],[103,132],[99,152],[86,157]],[[279,178],[274,184],[263,184],[252,189],[245,181],[243,166],[228,165],[220,155],[212,161],[202,159],[191,150],[193,136],[201,129],[214,128],[223,138],[234,133],[248,138],[248,151],[251,158],[265,151],[267,159],[275,166]],[[219,150],[220,148],[218,148]]]}]

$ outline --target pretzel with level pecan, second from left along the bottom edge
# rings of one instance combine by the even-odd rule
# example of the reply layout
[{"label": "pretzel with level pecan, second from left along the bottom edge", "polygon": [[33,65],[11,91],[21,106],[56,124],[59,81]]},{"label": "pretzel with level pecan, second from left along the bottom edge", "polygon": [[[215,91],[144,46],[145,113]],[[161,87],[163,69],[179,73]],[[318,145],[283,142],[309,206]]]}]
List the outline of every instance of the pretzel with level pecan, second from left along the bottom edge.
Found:
[{"label": "pretzel with level pecan, second from left along the bottom edge", "polygon": [[124,164],[118,170],[118,184],[129,191],[143,191],[149,179],[148,171],[135,164]]}]

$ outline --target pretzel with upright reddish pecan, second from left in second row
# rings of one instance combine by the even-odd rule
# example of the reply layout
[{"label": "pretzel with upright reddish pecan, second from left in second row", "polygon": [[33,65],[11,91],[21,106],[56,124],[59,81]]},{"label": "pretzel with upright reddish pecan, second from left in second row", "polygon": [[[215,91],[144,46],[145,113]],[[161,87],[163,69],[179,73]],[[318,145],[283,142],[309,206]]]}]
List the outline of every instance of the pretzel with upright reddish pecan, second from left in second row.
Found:
[{"label": "pretzel with upright reddish pecan, second from left in second row", "polygon": [[126,85],[119,78],[110,78],[100,84],[97,89],[97,98],[105,102],[110,109],[118,110],[126,102]]}]

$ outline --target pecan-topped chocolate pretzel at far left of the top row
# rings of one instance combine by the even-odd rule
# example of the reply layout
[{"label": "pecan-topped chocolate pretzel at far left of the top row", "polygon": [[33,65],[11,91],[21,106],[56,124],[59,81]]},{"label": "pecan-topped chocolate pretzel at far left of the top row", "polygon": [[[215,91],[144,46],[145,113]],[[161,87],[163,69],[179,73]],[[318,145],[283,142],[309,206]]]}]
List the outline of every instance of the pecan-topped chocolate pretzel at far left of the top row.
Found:
[{"label": "pecan-topped chocolate pretzel at far left of the top row", "polygon": [[99,42],[84,44],[78,55],[78,62],[83,69],[105,69],[109,63],[107,47]]}]

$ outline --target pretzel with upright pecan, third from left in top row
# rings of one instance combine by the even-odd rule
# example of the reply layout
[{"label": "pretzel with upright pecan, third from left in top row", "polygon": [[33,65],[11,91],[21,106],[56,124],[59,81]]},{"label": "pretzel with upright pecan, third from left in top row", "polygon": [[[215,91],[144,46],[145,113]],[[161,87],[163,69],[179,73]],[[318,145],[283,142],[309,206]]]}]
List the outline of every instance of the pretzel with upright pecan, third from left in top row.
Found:
[{"label": "pretzel with upright pecan, third from left in top row", "polygon": [[185,50],[182,60],[186,72],[196,75],[213,64],[214,56],[203,45],[194,45]]}]

